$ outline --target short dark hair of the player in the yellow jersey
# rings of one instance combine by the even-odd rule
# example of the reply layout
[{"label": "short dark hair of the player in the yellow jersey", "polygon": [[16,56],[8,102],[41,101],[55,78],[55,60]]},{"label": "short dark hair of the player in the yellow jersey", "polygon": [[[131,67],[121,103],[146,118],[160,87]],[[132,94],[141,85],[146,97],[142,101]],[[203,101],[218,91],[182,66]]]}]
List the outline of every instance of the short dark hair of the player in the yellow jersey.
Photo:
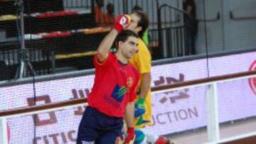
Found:
[{"label": "short dark hair of the player in the yellow jersey", "polygon": [[142,27],[142,31],[139,31],[138,35],[142,38],[146,29],[149,27],[149,16],[143,11],[133,11],[133,13],[139,16],[138,26]]}]

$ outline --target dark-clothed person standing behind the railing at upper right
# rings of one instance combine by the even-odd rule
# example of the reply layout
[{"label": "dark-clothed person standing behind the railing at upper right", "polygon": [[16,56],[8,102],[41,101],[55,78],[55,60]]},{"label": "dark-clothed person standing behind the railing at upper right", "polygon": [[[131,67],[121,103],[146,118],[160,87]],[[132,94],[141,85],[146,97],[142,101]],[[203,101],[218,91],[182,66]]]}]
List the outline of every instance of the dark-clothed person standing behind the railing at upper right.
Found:
[{"label": "dark-clothed person standing behind the railing at upper right", "polygon": [[196,54],[196,38],[198,33],[198,20],[196,19],[196,3],[194,0],[183,1],[183,16],[186,31],[185,55]]}]

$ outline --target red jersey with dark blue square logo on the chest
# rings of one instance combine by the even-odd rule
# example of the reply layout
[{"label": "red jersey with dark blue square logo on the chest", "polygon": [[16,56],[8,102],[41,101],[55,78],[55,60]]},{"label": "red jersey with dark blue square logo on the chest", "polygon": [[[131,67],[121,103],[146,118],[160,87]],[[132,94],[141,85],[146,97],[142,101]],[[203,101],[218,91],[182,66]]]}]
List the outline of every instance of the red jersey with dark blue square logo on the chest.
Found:
[{"label": "red jersey with dark blue square logo on the chest", "polygon": [[128,102],[136,99],[139,72],[131,64],[122,64],[110,53],[105,62],[94,56],[95,81],[88,104],[108,116],[124,117]]}]

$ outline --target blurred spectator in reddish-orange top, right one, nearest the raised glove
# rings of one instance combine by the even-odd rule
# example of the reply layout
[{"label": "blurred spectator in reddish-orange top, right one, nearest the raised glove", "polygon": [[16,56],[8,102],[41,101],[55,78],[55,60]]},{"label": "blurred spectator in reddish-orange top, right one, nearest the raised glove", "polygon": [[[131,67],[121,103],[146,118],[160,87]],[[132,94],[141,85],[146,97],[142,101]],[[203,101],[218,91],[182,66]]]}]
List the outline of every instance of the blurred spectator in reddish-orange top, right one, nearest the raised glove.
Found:
[{"label": "blurred spectator in reddish-orange top, right one, nearest the raised glove", "polygon": [[114,24],[114,5],[107,4],[107,13],[104,15],[105,24],[107,26],[113,26]]}]

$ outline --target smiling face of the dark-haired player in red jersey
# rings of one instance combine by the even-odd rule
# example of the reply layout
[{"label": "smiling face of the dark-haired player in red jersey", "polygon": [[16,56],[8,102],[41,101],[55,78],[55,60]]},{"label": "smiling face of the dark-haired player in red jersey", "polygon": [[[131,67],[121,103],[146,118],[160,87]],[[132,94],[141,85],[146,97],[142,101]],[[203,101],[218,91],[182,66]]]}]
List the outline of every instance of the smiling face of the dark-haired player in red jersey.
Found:
[{"label": "smiling face of the dark-haired player in red jersey", "polygon": [[119,45],[119,50],[121,50],[121,53],[123,57],[130,59],[132,56],[138,52],[138,40],[136,37],[129,36],[127,40]]}]

